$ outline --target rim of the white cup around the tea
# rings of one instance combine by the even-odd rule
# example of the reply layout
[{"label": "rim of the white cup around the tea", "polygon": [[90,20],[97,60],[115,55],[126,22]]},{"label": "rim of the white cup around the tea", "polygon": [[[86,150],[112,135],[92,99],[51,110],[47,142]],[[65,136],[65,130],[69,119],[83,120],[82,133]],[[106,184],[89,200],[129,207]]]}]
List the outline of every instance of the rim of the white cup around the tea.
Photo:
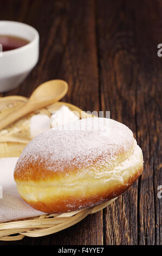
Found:
[{"label": "rim of the white cup around the tea", "polygon": [[20,52],[20,51],[26,50],[27,48],[29,48],[30,46],[32,46],[33,44],[35,44],[35,42],[36,42],[37,40],[39,40],[39,38],[40,38],[40,35],[39,35],[38,31],[37,31],[34,27],[32,27],[32,26],[30,26],[30,25],[28,25],[28,24],[26,24],[26,23],[18,22],[18,21],[1,20],[1,21],[0,21],[0,26],[1,26],[1,23],[6,23],[6,25],[7,25],[7,24],[8,24],[8,25],[9,25],[9,24],[13,24],[13,23],[14,23],[15,25],[16,25],[16,24],[17,24],[17,25],[23,25],[23,26],[25,26],[25,27],[30,28],[31,31],[34,32],[34,39],[31,40],[27,45],[21,46],[21,47],[19,47],[19,48],[13,49],[13,50],[9,50],[9,51],[2,52],[2,53],[3,53],[3,56],[7,56],[7,55],[12,54],[12,53],[16,53],[16,52]]}]

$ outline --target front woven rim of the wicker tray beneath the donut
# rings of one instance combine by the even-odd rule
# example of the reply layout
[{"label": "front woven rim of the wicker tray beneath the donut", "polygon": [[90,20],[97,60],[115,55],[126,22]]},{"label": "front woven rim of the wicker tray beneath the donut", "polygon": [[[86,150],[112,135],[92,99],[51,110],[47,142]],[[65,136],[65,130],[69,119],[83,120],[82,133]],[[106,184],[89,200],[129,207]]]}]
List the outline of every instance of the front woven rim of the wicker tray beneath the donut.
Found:
[{"label": "front woven rim of the wicker tray beneath the donut", "polygon": [[[21,240],[24,236],[38,237],[54,234],[80,222],[89,214],[94,214],[111,204],[116,198],[92,208],[64,214],[42,215],[25,220],[5,222],[0,224],[0,240]],[[14,236],[13,236],[14,235]]]}]

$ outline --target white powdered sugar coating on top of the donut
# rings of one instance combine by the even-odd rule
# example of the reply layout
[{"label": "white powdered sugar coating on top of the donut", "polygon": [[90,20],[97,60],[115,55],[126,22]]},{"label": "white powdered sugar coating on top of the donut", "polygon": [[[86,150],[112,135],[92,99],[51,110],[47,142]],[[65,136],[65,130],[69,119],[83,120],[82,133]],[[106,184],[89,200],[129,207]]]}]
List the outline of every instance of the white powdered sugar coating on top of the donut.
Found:
[{"label": "white powdered sugar coating on top of the donut", "polygon": [[[17,172],[38,164],[55,173],[95,164],[111,165],[133,147],[127,126],[113,119],[87,118],[43,132],[31,141],[18,159]],[[68,169],[68,172],[67,172]]]}]

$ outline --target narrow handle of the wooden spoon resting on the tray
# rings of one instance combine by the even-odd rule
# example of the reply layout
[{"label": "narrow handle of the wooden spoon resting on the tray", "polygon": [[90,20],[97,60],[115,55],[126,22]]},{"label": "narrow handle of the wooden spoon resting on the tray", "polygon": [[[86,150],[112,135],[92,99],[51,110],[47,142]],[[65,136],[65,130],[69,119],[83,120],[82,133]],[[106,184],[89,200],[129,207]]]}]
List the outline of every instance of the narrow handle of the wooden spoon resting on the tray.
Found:
[{"label": "narrow handle of the wooden spoon resting on the tray", "polygon": [[32,111],[33,108],[31,108],[30,105],[26,103],[24,106],[18,108],[15,112],[7,115],[2,120],[0,120],[0,130],[4,129],[8,125],[14,123],[14,121],[20,119],[21,117]]}]

